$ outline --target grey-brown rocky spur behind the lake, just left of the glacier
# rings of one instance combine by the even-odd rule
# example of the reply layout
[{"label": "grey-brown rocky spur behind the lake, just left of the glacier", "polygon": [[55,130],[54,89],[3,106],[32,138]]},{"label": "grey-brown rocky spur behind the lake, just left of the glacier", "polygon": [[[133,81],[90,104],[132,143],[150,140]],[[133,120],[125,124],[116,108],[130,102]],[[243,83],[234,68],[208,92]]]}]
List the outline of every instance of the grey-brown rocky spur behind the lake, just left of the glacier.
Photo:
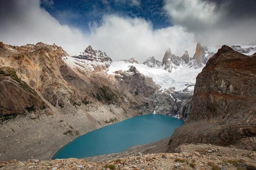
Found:
[{"label": "grey-brown rocky spur behind the lake, just left of the glacier", "polygon": [[160,92],[151,78],[142,75],[135,66],[130,66],[128,71],[118,72],[115,78],[118,90],[130,107],[141,114],[154,112],[154,100]]}]

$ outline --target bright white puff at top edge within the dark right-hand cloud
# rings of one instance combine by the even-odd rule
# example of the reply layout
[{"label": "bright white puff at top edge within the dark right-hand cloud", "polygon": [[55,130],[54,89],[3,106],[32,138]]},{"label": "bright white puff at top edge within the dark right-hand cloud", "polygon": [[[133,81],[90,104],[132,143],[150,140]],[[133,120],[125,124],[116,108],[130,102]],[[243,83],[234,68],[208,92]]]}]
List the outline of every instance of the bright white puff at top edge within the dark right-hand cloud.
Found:
[{"label": "bright white puff at top edge within the dark right-hand cloud", "polygon": [[192,31],[211,27],[222,15],[215,3],[203,0],[165,0],[164,9],[172,22]]}]

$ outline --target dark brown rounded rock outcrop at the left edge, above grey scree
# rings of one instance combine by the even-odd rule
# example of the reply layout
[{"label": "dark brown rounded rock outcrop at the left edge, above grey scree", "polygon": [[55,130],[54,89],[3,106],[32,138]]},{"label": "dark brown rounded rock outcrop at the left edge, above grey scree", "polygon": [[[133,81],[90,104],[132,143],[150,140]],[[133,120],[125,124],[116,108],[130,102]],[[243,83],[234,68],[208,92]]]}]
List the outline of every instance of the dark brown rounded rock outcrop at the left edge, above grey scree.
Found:
[{"label": "dark brown rounded rock outcrop at the left edge, above grey scree", "polygon": [[14,69],[0,68],[0,116],[40,110],[46,104],[37,93],[21,81]]}]

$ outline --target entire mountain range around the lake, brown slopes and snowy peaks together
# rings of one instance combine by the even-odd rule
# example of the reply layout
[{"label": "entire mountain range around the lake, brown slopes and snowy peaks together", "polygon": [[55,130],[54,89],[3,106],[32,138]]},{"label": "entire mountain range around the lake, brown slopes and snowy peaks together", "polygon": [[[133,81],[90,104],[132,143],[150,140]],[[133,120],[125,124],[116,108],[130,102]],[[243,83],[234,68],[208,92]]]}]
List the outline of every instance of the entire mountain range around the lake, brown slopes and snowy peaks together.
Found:
[{"label": "entire mountain range around the lake, brown slopes and snowy peaks together", "polygon": [[[0,42],[0,143],[6,148],[0,153],[0,160],[49,159],[79,135],[141,114],[173,115],[188,122],[182,126],[187,132],[197,130],[198,122],[208,124],[204,121],[223,117],[216,108],[232,115],[234,104],[241,104],[243,109],[243,100],[250,98],[249,102],[253,105],[255,51],[256,46],[236,45],[231,48],[222,46],[217,52],[217,49],[198,43],[193,57],[189,57],[187,51],[178,57],[167,49],[162,62],[149,57],[143,64],[137,64],[134,58],[113,62],[106,53],[91,46],[81,53],[69,55],[56,44],[39,42],[11,46]],[[232,56],[235,56],[234,67],[228,65],[233,62],[230,59]],[[250,63],[248,69],[244,66],[246,62]],[[216,65],[219,67],[213,69],[212,66]],[[238,65],[241,65],[240,69]],[[238,86],[236,71],[232,69],[238,69],[238,74],[245,77],[242,79],[244,84],[251,81],[252,86],[246,85],[244,90],[243,86]],[[234,83],[225,75],[230,71]],[[212,81],[211,77],[217,77],[216,81]],[[230,105],[232,100],[229,99],[236,96],[241,97],[240,102]],[[199,107],[205,110],[206,115],[198,111]],[[251,114],[250,111],[253,113],[253,107],[248,109],[244,110],[244,115],[247,111],[248,114]],[[218,116],[215,115],[217,113]],[[243,117],[239,120],[245,121]],[[229,119],[222,124],[233,126]],[[251,125],[254,130],[253,121]],[[205,127],[211,128],[214,124]],[[200,134],[209,131],[209,128],[199,131]],[[237,126],[236,130],[239,128],[241,126]],[[188,135],[185,137],[191,140],[176,140],[184,130],[180,129],[169,142],[170,150],[182,141],[199,140]],[[230,129],[224,127],[222,130]],[[209,137],[220,142],[209,140],[207,135],[202,141],[227,146],[253,136],[253,130],[245,129],[228,143],[216,138],[220,132],[216,130]]]}]

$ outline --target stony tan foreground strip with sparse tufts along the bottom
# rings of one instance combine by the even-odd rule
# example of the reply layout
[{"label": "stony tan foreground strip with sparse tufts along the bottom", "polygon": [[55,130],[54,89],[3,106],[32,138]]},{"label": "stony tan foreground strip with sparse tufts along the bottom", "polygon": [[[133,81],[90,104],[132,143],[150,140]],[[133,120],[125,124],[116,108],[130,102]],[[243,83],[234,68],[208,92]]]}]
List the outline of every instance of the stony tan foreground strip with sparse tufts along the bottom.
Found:
[{"label": "stony tan foreground strip with sparse tufts along the bottom", "polygon": [[207,144],[184,144],[180,153],[161,153],[90,162],[85,159],[2,161],[0,170],[256,170],[256,152]]}]

